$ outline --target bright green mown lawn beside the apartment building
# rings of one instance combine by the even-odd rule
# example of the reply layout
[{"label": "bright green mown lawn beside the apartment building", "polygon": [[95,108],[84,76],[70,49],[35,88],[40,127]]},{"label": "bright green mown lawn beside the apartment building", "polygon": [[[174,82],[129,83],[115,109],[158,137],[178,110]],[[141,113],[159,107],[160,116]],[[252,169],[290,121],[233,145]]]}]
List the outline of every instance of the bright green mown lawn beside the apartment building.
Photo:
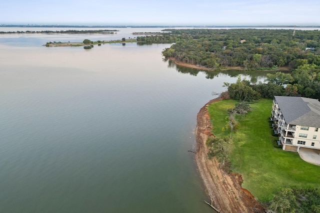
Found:
[{"label": "bright green mown lawn beside the apartment building", "polygon": [[[214,135],[229,136],[222,128],[227,120],[227,108],[235,103],[223,100],[209,106]],[[232,134],[231,167],[233,172],[242,175],[242,187],[264,202],[279,188],[320,187],[319,166],[304,162],[297,153],[273,146],[277,137],[271,135],[268,122],[272,100],[262,99],[250,106],[249,114],[237,117],[239,129]]]}]

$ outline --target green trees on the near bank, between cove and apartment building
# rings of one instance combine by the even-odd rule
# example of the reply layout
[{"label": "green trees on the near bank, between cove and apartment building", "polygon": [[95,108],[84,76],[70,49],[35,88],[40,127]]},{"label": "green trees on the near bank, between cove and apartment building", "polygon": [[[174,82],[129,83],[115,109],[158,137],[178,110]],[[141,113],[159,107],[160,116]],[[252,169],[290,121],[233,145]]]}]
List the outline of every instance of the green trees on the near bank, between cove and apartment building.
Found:
[{"label": "green trees on the near bank, between cove and apartment building", "polygon": [[291,73],[275,72],[266,75],[266,82],[252,84],[238,77],[235,83],[224,83],[230,98],[254,101],[278,96],[320,98],[320,69],[314,64],[299,65]]}]

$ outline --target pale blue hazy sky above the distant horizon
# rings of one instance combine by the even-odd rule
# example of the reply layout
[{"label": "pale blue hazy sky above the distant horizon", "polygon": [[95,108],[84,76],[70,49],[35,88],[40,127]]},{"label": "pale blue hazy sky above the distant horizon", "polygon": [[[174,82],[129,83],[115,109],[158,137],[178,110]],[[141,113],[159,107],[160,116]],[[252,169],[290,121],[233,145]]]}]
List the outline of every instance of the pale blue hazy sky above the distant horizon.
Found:
[{"label": "pale blue hazy sky above the distant horizon", "polygon": [[2,0],[0,24],[320,25],[320,0]]}]

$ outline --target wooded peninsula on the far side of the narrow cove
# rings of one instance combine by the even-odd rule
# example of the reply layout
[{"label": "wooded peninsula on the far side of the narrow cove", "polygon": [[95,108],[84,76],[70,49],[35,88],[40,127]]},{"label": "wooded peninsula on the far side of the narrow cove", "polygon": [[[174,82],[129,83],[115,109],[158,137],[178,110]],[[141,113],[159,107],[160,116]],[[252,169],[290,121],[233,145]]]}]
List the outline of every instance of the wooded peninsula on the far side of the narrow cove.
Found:
[{"label": "wooded peninsula on the far side of the narrow cove", "polygon": [[[168,34],[141,37],[147,42],[175,42],[163,50],[165,57],[203,67],[219,69],[240,66],[247,70],[288,66],[294,60],[307,59],[319,65],[318,31],[285,29],[167,29]],[[175,38],[171,38],[175,36]],[[167,39],[170,38],[170,39]],[[171,40],[172,39],[172,40]],[[141,40],[141,41],[142,41]],[[162,41],[163,41],[162,40]],[[245,41],[244,41],[245,40]],[[306,47],[314,51],[303,51]],[[174,50],[174,51],[172,51]],[[294,62],[293,62],[294,63]]]}]

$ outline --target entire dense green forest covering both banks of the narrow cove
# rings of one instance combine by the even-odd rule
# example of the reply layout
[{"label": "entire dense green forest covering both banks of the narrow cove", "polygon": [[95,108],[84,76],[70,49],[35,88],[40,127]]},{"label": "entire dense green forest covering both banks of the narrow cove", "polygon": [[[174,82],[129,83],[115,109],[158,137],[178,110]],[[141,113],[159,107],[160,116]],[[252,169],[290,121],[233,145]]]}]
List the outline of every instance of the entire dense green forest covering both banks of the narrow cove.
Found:
[{"label": "entire dense green forest covering both banks of the narrow cove", "polygon": [[[166,33],[137,37],[141,43],[174,43],[163,50],[165,58],[220,70],[277,70],[268,83],[238,81],[229,87],[234,99],[254,100],[273,95],[320,98],[320,31],[288,29],[166,29]],[[211,73],[211,74],[210,74]],[[207,72],[207,78],[214,77]],[[196,73],[195,73],[196,74]],[[238,86],[247,93],[240,97]],[[232,93],[233,92],[233,93]],[[239,92],[239,91],[237,91]]]}]

